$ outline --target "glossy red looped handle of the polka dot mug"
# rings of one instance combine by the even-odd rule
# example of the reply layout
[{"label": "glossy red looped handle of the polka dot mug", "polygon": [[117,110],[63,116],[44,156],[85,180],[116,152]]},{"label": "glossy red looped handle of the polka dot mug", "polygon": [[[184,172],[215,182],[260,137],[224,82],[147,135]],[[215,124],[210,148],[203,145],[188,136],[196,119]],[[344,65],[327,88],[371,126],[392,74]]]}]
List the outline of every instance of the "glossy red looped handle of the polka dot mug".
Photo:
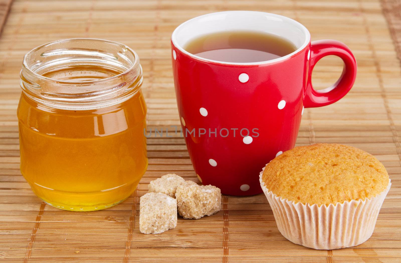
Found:
[{"label": "glossy red looped handle of the polka dot mug", "polygon": [[[335,55],[344,61],[340,78],[332,86],[316,90],[312,86],[312,70],[316,63],[325,56]],[[350,49],[336,40],[312,41],[310,46],[310,65],[308,82],[304,96],[304,107],[322,107],[334,103],[344,97],[351,89],[356,78],[356,60]]]}]

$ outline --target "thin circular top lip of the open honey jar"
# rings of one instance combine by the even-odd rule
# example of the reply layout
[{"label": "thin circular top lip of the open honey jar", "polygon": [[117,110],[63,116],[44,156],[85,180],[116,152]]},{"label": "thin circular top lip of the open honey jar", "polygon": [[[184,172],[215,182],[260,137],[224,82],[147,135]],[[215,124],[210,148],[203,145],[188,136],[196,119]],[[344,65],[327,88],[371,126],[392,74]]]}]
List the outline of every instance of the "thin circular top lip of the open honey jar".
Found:
[{"label": "thin circular top lip of the open honey jar", "polygon": [[[30,66],[28,65],[28,58],[30,55],[32,55],[34,52],[43,49],[44,47],[47,47],[48,45],[53,45],[53,44],[58,44],[61,42],[69,42],[69,41],[79,41],[79,40],[91,40],[91,41],[101,41],[101,42],[107,42],[109,44],[114,44],[114,45],[119,45],[121,47],[124,47],[127,49],[127,51],[130,51],[130,53],[132,53],[133,57],[134,57],[134,62],[132,63],[132,66],[129,69],[126,69],[125,71],[111,76],[111,77],[107,77],[104,79],[96,79],[96,80],[81,80],[81,81],[70,81],[70,80],[60,80],[60,79],[53,79],[50,77],[45,77],[41,74],[36,73],[35,71],[33,71]],[[135,69],[135,67],[138,67],[139,64],[139,57],[138,54],[131,49],[130,47],[128,47],[127,45],[124,45],[120,42],[116,42],[116,41],[111,41],[111,40],[106,40],[106,39],[102,39],[102,38],[65,38],[65,39],[60,39],[60,40],[55,40],[55,41],[51,41],[51,42],[47,42],[43,45],[39,45],[33,49],[31,49],[30,51],[28,51],[25,55],[24,55],[24,59],[22,61],[22,65],[25,67],[26,70],[29,71],[30,74],[34,75],[35,77],[38,77],[40,79],[45,79],[45,80],[49,80],[49,81],[57,81],[58,83],[70,83],[70,84],[76,84],[76,83],[102,83],[102,82],[107,82],[107,81],[111,81],[113,79],[118,79],[119,77],[121,77],[122,75],[127,74],[128,72],[132,71],[133,69]]]}]

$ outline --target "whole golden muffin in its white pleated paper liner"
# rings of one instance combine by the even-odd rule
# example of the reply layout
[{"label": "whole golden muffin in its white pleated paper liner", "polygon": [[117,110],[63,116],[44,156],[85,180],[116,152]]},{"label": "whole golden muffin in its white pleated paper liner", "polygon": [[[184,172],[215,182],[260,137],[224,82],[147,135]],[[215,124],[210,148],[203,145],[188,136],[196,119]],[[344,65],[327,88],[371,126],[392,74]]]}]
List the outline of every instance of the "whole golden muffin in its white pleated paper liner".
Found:
[{"label": "whole golden muffin in its white pleated paper liner", "polygon": [[314,249],[369,239],[391,186],[377,158],[341,144],[284,152],[263,168],[260,183],[282,235]]}]

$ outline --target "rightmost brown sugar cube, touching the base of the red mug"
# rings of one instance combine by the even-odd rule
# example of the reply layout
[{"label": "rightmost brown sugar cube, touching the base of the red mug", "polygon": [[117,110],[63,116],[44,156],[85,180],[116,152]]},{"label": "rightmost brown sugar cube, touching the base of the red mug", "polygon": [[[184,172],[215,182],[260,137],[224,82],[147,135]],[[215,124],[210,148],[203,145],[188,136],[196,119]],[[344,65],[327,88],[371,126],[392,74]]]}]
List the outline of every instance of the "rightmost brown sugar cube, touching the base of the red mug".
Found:
[{"label": "rightmost brown sugar cube, touching the base of the red mug", "polygon": [[184,218],[199,219],[221,209],[221,191],[212,185],[197,185],[186,181],[177,187],[177,208]]}]

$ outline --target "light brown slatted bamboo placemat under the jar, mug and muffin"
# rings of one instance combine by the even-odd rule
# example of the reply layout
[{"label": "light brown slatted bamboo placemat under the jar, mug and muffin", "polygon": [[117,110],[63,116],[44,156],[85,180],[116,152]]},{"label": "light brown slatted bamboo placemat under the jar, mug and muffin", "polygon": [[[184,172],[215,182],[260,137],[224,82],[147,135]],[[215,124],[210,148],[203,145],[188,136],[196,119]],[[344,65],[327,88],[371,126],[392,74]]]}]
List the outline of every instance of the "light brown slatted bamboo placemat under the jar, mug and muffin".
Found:
[{"label": "light brown slatted bamboo placemat under the jar, mug and muffin", "polygon": [[[383,0],[383,14],[379,0],[14,1],[0,36],[0,261],[401,262],[401,67],[395,51],[400,45],[400,16],[394,9],[399,3]],[[340,40],[354,52],[354,87],[333,105],[306,109],[297,145],[348,144],[383,162],[393,185],[367,242],[333,251],[295,245],[277,230],[263,194],[223,196],[223,210],[213,216],[180,218],[176,229],[141,234],[138,197],[146,193],[150,180],[175,172],[197,181],[179,137],[149,138],[149,168],[138,190],[106,210],[69,212],[45,205],[20,175],[16,108],[18,73],[27,51],[71,37],[129,45],[144,69],[148,128],[165,128],[180,124],[170,34],[189,18],[220,10],[289,16],[310,30],[312,40]],[[322,60],[314,70],[314,85],[328,87],[341,70],[339,59]]]}]

